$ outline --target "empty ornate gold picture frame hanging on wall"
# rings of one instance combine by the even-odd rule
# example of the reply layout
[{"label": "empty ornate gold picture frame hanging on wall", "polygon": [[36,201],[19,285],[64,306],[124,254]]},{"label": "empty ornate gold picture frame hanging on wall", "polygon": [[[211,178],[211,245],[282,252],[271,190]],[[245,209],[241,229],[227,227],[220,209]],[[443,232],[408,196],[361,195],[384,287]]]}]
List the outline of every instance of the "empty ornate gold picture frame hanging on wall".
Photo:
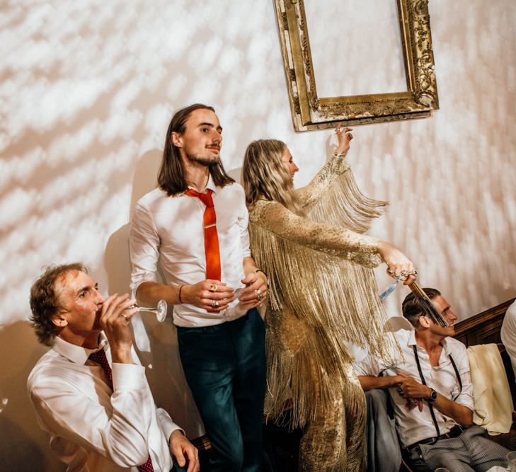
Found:
[{"label": "empty ornate gold picture frame hanging on wall", "polygon": [[[296,131],[334,127],[336,122],[360,125],[428,117],[439,108],[428,0],[391,0],[399,18],[406,91],[334,97],[317,93],[304,1],[275,0]],[[325,8],[325,1],[318,8]]]}]

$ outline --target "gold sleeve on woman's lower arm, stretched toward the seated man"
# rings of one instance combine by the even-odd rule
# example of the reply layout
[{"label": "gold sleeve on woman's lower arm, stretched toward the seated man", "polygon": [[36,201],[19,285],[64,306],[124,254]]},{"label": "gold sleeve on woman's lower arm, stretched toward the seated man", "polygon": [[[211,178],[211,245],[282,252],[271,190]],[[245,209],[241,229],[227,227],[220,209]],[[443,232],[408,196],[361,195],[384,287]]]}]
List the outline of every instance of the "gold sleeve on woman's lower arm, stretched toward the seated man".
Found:
[{"label": "gold sleeve on woman's lower arm, stretched toward the seated man", "polygon": [[277,237],[314,251],[352,260],[365,267],[382,263],[377,238],[299,217],[277,202],[260,200],[251,212],[251,221]]}]

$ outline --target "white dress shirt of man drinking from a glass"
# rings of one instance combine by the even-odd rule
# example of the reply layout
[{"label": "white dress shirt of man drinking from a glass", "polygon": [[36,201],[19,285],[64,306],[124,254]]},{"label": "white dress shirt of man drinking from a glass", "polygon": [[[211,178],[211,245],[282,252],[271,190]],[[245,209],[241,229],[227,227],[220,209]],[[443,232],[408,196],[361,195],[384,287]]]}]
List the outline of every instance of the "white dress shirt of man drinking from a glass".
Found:
[{"label": "white dress shirt of man drinking from a glass", "polygon": [[88,360],[93,350],[61,338],[35,365],[28,393],[50,448],[68,471],[134,471],[151,455],[154,471],[172,466],[168,439],[179,427],[156,408],[134,350],[135,364],[112,364],[113,390],[102,367]]}]

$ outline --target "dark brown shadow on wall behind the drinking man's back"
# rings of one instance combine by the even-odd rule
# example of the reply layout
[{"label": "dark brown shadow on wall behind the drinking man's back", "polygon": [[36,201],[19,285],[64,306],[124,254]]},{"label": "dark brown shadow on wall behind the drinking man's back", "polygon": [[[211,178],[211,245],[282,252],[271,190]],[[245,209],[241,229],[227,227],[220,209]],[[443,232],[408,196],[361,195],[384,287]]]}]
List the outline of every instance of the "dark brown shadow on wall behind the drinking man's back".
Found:
[{"label": "dark brown shadow on wall behind the drinking man's back", "polygon": [[[64,471],[49,454],[49,435],[36,422],[27,377],[47,351],[33,328],[18,321],[0,331],[0,468],[2,471]],[[29,430],[25,430],[30,425]]]}]

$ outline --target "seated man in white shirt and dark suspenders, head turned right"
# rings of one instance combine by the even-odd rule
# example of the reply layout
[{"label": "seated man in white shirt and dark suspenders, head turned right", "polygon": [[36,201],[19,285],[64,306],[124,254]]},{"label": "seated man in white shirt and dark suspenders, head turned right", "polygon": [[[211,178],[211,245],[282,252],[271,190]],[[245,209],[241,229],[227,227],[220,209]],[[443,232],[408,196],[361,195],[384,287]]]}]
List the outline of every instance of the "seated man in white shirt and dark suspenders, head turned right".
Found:
[{"label": "seated man in white shirt and dark suspenders, head turned right", "polygon": [[505,447],[473,424],[473,386],[466,346],[450,338],[457,316],[436,289],[423,289],[449,326],[423,313],[413,293],[403,301],[403,316],[414,330],[399,330],[403,358],[386,364],[367,355],[355,363],[362,388],[388,388],[394,406],[403,459],[413,471],[487,471],[506,464]]}]

